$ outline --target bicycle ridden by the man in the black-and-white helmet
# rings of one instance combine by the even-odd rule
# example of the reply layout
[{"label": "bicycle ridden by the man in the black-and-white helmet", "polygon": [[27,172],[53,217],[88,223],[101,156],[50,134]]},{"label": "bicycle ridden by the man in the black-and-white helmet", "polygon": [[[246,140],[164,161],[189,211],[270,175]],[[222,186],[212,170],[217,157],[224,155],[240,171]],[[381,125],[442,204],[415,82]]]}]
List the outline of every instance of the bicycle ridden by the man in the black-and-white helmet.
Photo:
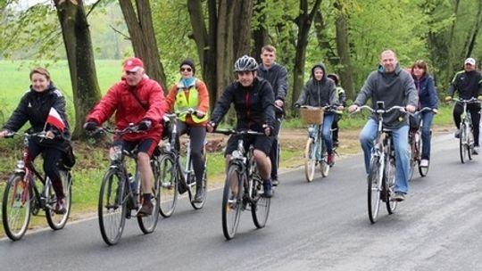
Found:
[{"label": "bicycle ridden by the man in the black-and-white helmet", "polygon": [[213,133],[238,135],[237,150],[231,153],[222,194],[222,233],[227,240],[234,238],[241,211],[251,210],[254,226],[262,228],[270,214],[270,198],[262,196],[262,177],[254,160],[254,147],[245,152],[243,136],[265,136],[246,129],[217,129]]}]

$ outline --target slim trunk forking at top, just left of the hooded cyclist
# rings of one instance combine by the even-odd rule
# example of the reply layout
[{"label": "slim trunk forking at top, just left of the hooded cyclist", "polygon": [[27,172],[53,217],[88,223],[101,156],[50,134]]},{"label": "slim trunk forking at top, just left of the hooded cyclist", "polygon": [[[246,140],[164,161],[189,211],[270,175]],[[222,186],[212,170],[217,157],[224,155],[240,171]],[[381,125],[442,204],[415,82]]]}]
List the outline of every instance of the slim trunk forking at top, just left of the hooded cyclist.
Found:
[{"label": "slim trunk forking at top, just left of the hooded cyclist", "polygon": [[308,34],[312,27],[312,21],[315,13],[320,8],[321,0],[316,0],[313,4],[311,12],[308,12],[308,1],[300,1],[300,14],[296,18],[298,26],[298,38],[296,42],[295,68],[293,71],[293,101],[292,107],[295,105],[296,99],[301,93],[304,84],[304,62],[306,56],[306,46],[308,45]]}]

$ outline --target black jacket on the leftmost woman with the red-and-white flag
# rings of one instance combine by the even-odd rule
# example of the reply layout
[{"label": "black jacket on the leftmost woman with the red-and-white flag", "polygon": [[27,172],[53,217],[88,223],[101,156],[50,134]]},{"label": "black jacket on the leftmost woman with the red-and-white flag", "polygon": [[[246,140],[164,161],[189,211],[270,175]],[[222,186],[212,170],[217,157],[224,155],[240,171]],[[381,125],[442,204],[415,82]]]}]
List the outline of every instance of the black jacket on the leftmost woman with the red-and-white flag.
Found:
[{"label": "black jacket on the leftmost woman with the red-and-white flag", "polygon": [[[59,113],[65,124],[65,129],[62,133],[56,127],[46,125],[46,119],[52,107]],[[29,91],[21,97],[21,102],[17,106],[17,109],[13,111],[12,116],[8,119],[3,129],[16,132],[27,121],[29,121],[33,132],[43,131],[44,127],[46,127],[46,131],[52,130],[55,134],[54,141],[69,141],[71,138],[69,122],[65,114],[65,99],[53,83],[47,86],[46,91],[41,93],[36,92],[30,87]]]}]

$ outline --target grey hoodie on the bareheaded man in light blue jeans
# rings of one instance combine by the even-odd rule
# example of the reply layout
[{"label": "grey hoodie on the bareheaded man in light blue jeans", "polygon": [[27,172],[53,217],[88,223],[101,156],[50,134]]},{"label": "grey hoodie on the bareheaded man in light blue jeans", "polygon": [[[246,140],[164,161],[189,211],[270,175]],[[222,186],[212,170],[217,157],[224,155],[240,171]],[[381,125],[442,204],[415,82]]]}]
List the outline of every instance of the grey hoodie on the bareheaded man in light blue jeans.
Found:
[{"label": "grey hoodie on the bareheaded man in light blue jeans", "polygon": [[[395,105],[404,107],[408,104],[417,107],[419,103],[419,95],[411,75],[402,70],[398,63],[395,71],[391,73],[386,73],[381,65],[378,66],[378,70],[372,71],[353,104],[362,106],[370,98],[371,107],[374,109],[377,108],[377,101],[385,102],[386,109]],[[386,128],[396,129],[408,125],[408,115],[401,111],[391,111],[383,117],[383,125]],[[377,115],[373,114],[371,118],[377,120]]]}]

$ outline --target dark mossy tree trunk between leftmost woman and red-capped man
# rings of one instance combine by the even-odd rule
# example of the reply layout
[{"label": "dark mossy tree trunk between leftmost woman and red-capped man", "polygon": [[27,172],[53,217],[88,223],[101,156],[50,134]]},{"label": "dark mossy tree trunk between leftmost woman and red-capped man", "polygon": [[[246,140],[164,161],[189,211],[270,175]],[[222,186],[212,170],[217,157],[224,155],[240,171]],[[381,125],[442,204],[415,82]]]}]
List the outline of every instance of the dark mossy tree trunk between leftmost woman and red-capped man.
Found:
[{"label": "dark mossy tree trunk between leftmost woman and red-capped man", "polygon": [[88,111],[101,98],[96,78],[94,50],[83,1],[54,0],[54,4],[62,27],[62,37],[71,73],[75,107],[75,127],[72,138],[78,139],[85,137],[82,125]]}]

